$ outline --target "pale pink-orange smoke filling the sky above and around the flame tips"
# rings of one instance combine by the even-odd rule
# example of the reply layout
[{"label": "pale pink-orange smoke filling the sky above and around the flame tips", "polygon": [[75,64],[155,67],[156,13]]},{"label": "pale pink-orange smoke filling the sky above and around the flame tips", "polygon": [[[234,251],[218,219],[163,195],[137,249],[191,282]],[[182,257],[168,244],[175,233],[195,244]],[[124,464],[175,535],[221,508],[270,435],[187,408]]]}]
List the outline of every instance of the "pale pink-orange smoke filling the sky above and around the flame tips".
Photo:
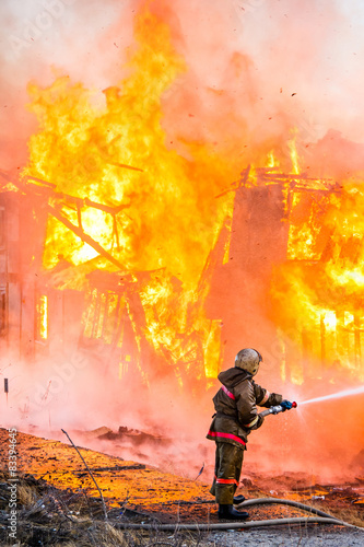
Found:
[{"label": "pale pink-orange smoke filling the sky above and around the flame tips", "polygon": [[[4,167],[24,164],[25,141],[36,129],[25,110],[28,81],[49,85],[56,71],[92,89],[119,82],[133,47],[133,18],[144,3],[1,2]],[[284,148],[293,128],[302,143],[315,143],[330,129],[363,141],[364,15],[359,1],[146,4],[167,22],[188,66],[164,100],[164,127],[174,147],[183,150],[187,138],[203,139],[245,165],[274,147]]]}]

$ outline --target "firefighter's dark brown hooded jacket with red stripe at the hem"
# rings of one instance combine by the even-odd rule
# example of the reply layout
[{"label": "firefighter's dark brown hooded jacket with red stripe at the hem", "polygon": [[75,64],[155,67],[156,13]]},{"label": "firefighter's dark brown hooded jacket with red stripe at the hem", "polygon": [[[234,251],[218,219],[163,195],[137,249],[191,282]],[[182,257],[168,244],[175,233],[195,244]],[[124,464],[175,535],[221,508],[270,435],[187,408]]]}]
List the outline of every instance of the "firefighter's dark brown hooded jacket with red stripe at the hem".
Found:
[{"label": "firefighter's dark brown hooded jacket with red stripe at the hem", "polygon": [[269,393],[255,383],[249,372],[238,368],[221,372],[218,379],[222,387],[212,399],[216,414],[207,438],[246,450],[248,434],[263,422],[257,405],[267,408],[279,405],[282,395]]}]

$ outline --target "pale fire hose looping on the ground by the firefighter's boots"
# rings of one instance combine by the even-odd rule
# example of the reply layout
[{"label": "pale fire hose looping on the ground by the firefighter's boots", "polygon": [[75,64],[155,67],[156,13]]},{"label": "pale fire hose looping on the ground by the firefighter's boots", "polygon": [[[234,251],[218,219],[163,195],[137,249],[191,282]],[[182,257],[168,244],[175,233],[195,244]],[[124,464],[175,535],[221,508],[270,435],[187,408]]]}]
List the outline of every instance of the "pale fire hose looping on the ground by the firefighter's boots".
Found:
[{"label": "pale fire hose looping on the ground by the firefighter's boots", "polygon": [[116,523],[114,526],[116,528],[138,528],[138,529],[165,529],[165,531],[176,531],[176,529],[189,529],[189,531],[212,531],[212,529],[233,529],[233,528],[255,528],[258,526],[277,526],[280,524],[334,524],[339,526],[348,526],[350,528],[355,528],[364,532],[364,528],[355,526],[354,524],[349,524],[348,522],[340,521],[339,519],[331,516],[319,509],[312,508],[310,505],[305,505],[297,501],[292,500],[281,500],[278,498],[258,498],[255,500],[243,501],[238,508],[247,505],[259,505],[262,503],[281,503],[285,505],[293,505],[304,511],[310,513],[317,513],[321,516],[294,516],[290,519],[269,519],[266,521],[231,521],[231,522],[219,522],[219,523],[174,523],[174,524],[143,524],[143,523]]}]

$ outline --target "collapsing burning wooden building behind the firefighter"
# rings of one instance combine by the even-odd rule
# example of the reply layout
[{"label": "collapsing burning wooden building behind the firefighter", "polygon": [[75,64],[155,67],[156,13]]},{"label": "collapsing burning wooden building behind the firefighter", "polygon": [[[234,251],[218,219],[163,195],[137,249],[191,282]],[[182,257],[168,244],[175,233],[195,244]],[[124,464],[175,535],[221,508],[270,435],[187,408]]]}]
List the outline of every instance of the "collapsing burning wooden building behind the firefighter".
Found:
[{"label": "collapsing burning wooden building behind the firefighter", "polygon": [[[116,214],[124,206],[110,208],[59,194],[42,181],[17,187],[23,196],[20,202],[33,201],[37,219],[25,213],[24,205],[20,211],[19,194],[2,194],[1,337],[3,344],[19,347],[20,357],[82,348],[95,358],[103,356],[104,366],[115,377],[132,370],[142,383],[166,374],[180,386],[196,387],[199,381],[207,385],[223,362],[232,361],[236,340],[240,345],[249,340],[263,348],[274,373],[280,369],[282,380],[293,383],[320,377],[326,369],[340,368],[340,360],[351,363],[349,372],[360,373],[359,295],[338,302],[324,278],[333,257],[342,270],[344,264],[357,261],[361,248],[357,235],[340,234],[339,226],[325,222],[348,207],[349,197],[337,183],[269,167],[244,171],[237,187],[230,190],[232,214],[174,333],[166,307],[174,311],[183,305],[181,280],[165,268],[122,269],[109,245],[103,247],[84,230],[82,211],[103,211],[114,219],[111,251],[114,240],[118,247]],[[42,241],[46,228],[42,208],[54,219],[49,222],[56,219],[82,245],[92,247],[95,258],[77,266],[58,254],[56,266],[43,270],[43,246],[24,243],[35,230]],[[64,214],[66,208],[74,210],[77,222]],[[305,290],[304,280],[312,280],[315,301],[303,299],[298,305],[306,310],[294,318],[283,302],[292,299],[289,309],[295,309],[294,291],[300,281]],[[26,298],[21,296],[24,292]]]}]

